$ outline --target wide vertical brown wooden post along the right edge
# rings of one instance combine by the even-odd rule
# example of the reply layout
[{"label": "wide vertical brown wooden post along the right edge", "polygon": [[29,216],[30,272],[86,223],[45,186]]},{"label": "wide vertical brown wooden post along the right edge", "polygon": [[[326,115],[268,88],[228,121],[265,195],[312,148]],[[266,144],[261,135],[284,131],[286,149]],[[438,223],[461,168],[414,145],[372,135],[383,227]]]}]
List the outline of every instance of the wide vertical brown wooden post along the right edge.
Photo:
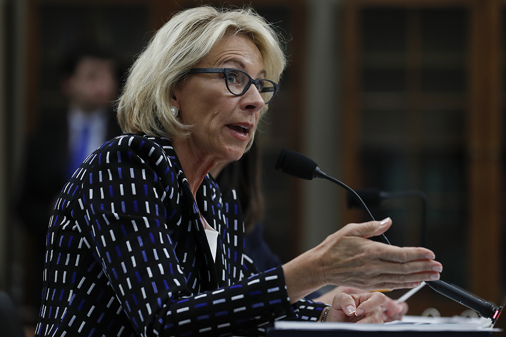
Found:
[{"label": "wide vertical brown wooden post along the right edge", "polygon": [[500,301],[502,17],[499,2],[471,8],[468,117],[470,291]]}]

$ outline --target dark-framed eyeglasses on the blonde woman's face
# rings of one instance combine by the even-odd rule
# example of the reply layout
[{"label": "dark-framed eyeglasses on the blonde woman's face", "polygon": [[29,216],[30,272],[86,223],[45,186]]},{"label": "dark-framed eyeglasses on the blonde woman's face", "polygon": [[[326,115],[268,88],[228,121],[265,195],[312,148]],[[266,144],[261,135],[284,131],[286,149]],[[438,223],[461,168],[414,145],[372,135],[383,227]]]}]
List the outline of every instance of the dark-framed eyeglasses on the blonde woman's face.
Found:
[{"label": "dark-framed eyeglasses on the blonde woman's face", "polygon": [[225,83],[231,94],[240,96],[248,91],[251,84],[255,84],[258,92],[269,104],[279,91],[279,84],[268,79],[252,79],[251,76],[239,69],[231,68],[192,68],[188,74],[225,74]]}]

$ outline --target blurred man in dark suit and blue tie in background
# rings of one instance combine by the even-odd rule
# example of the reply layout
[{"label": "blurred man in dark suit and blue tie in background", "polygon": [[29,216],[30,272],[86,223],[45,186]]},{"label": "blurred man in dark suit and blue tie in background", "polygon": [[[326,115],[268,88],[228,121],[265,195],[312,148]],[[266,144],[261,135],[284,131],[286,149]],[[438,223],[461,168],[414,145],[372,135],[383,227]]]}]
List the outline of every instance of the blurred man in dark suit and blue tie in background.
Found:
[{"label": "blurred man in dark suit and blue tie in background", "polygon": [[19,216],[34,240],[35,256],[30,257],[25,278],[26,302],[35,308],[49,218],[61,187],[104,141],[121,134],[111,106],[118,92],[118,65],[112,53],[93,44],[69,51],[61,63],[61,92],[66,107],[41,113],[27,142],[19,202]]}]

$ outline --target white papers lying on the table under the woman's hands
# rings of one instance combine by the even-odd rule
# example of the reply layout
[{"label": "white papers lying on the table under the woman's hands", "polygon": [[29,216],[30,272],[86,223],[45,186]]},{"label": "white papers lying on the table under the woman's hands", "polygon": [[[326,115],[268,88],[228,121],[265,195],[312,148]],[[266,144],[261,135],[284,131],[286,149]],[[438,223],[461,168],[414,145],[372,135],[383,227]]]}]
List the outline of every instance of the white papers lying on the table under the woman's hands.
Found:
[{"label": "white papers lying on the table under the woman's hands", "polygon": [[[490,320],[486,320],[490,322]],[[481,318],[404,316],[402,321],[385,324],[316,323],[301,321],[277,321],[275,329],[283,330],[349,330],[349,331],[501,331],[490,328]]]}]

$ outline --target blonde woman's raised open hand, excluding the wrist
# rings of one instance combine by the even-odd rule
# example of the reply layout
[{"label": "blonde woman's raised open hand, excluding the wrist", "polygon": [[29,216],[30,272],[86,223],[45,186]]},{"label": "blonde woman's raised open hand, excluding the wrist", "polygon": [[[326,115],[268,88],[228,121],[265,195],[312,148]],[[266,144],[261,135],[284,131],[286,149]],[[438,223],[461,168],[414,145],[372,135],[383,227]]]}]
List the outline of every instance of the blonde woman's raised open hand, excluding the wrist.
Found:
[{"label": "blonde woman's raised open hand, excluding the wrist", "polygon": [[348,224],[311,252],[319,256],[326,284],[365,290],[412,288],[439,279],[443,266],[426,248],[400,248],[367,239],[385,232],[392,221]]}]

